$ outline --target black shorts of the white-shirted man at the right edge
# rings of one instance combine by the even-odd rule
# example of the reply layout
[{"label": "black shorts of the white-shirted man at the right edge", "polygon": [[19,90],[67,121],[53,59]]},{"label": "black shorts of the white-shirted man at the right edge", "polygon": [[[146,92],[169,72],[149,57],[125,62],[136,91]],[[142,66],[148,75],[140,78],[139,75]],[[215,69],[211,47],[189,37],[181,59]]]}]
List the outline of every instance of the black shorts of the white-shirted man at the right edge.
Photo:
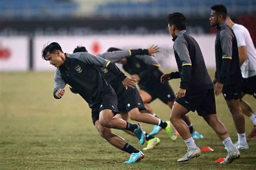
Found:
[{"label": "black shorts of the white-shirted man at the right edge", "polygon": [[256,76],[242,78],[242,92],[250,94],[256,99]]}]

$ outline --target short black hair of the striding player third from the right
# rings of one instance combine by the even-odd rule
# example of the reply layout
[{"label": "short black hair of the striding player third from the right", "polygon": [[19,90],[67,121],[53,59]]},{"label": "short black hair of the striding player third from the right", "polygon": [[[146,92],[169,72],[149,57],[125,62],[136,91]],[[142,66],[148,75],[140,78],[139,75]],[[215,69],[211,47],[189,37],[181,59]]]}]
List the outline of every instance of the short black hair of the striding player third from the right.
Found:
[{"label": "short black hair of the striding player third from the right", "polygon": [[179,12],[174,12],[168,16],[168,24],[175,25],[178,30],[186,30],[186,17]]}]

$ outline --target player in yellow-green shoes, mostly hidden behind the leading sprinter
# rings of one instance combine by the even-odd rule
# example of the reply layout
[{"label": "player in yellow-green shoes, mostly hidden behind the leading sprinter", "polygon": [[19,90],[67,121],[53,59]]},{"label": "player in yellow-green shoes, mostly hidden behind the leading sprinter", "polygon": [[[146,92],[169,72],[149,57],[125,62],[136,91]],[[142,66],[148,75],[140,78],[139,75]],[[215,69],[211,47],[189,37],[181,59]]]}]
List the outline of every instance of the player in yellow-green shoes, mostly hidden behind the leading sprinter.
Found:
[{"label": "player in yellow-green shoes, mostly hidden behind the leading sprinter", "polygon": [[[138,54],[143,55],[143,53],[146,53],[147,55],[152,55],[154,52],[157,52],[157,47],[151,46],[149,49],[144,50],[138,50]],[[84,46],[77,47],[74,51],[76,52],[87,52],[86,48]],[[100,55],[97,55],[102,58],[117,58],[119,56],[123,56],[125,51],[116,51],[116,52],[106,52],[102,53]],[[114,66],[116,66],[114,63],[112,63]],[[118,68],[117,68],[118,69]],[[115,76],[112,72],[107,70],[105,67],[98,67],[98,70],[102,74],[102,76],[105,78],[105,80],[113,87],[114,91],[117,93],[118,98],[118,110],[122,113],[122,118],[124,120],[127,120],[126,114],[129,114],[129,117],[132,120],[140,121],[147,124],[153,124],[153,125],[159,125],[162,128],[165,128],[166,132],[169,135],[173,135],[173,131],[170,126],[170,122],[164,122],[163,120],[154,117],[152,114],[149,113],[143,113],[141,114],[140,111],[145,110],[145,107],[143,105],[142,98],[139,95],[139,92],[137,88],[127,88],[122,85],[122,81]],[[73,91],[73,88],[71,89]],[[130,133],[129,133],[130,134]],[[132,134],[133,135],[133,134]],[[160,140],[159,138],[152,137],[151,135],[146,135],[147,140],[147,147],[144,148],[144,150],[147,149],[153,149],[156,145],[159,144]]]}]

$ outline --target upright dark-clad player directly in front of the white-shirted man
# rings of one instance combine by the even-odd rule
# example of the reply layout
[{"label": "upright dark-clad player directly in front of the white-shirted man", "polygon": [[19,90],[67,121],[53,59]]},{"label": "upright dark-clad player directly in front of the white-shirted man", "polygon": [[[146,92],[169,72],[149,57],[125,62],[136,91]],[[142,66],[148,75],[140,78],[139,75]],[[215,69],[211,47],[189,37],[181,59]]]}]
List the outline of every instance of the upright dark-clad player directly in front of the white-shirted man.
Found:
[{"label": "upright dark-clad player directly in front of the white-shirted man", "polygon": [[245,135],[245,118],[240,106],[242,77],[237,39],[225,22],[226,7],[218,4],[213,5],[211,9],[210,24],[218,29],[215,40],[216,72],[213,80],[215,95],[223,93],[238,133],[235,146],[240,150],[245,150],[249,147]]}]

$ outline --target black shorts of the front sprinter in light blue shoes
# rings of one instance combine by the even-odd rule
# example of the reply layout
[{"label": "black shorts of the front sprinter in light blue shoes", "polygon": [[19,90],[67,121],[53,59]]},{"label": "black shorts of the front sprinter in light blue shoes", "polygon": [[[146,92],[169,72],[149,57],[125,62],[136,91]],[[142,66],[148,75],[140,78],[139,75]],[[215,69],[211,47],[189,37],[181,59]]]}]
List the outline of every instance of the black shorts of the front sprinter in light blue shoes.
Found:
[{"label": "black shorts of the front sprinter in light blue shoes", "polygon": [[99,120],[99,113],[105,109],[110,109],[114,115],[120,113],[117,108],[117,95],[114,91],[109,91],[102,96],[99,104],[94,106],[92,109],[92,123],[95,125],[95,122]]}]

